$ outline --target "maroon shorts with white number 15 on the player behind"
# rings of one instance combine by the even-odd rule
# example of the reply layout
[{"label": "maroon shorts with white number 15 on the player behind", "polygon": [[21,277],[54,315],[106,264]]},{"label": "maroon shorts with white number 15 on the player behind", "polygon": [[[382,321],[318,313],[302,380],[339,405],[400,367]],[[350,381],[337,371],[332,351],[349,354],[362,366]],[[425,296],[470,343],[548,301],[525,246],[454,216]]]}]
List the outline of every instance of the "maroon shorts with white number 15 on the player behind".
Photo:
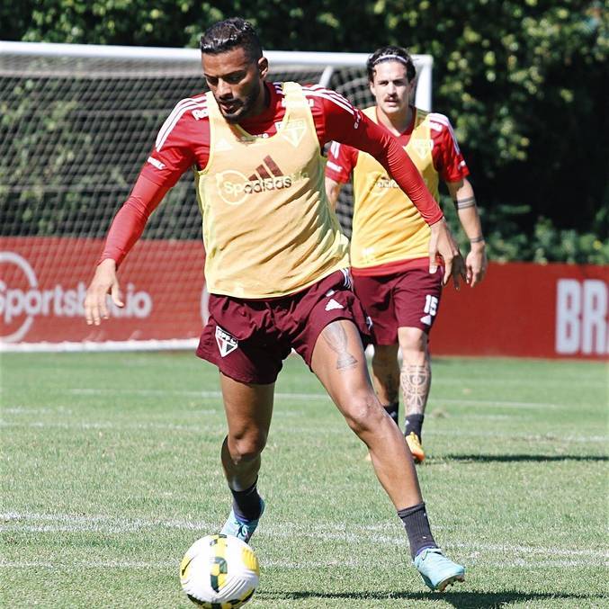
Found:
[{"label": "maroon shorts with white number 15 on the player behind", "polygon": [[412,268],[376,277],[354,277],[354,290],[374,324],[376,345],[396,345],[399,327],[429,334],[440,307],[443,268]]}]

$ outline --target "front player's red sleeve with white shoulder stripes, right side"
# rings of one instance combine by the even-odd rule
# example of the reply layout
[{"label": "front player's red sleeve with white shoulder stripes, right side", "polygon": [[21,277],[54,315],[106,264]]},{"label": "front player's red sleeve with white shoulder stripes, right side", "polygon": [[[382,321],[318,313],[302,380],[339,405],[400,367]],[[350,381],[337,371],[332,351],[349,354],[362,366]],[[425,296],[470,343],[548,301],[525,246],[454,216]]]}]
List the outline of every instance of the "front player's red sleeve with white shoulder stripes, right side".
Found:
[{"label": "front player's red sleeve with white shoulder stripes, right side", "polygon": [[305,93],[312,100],[311,110],[322,145],[335,140],[367,152],[385,167],[407,193],[427,224],[443,219],[442,210],[397,139],[355,108],[343,95],[320,86],[305,87]]}]

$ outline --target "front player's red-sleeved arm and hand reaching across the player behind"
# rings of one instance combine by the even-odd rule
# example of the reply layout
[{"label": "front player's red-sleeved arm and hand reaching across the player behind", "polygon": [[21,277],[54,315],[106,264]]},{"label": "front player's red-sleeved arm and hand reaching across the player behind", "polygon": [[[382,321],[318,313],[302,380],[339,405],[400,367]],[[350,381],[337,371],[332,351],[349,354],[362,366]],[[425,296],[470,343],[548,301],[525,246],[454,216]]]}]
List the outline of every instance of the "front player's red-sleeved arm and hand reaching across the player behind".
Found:
[{"label": "front player's red-sleeved arm and hand reaching across the player behind", "polygon": [[[353,106],[350,108],[354,110]],[[363,150],[376,158],[399,187],[407,193],[408,198],[431,229],[428,248],[429,272],[435,273],[438,266],[437,256],[442,255],[443,284],[445,285],[452,278],[454,287],[459,289],[460,277],[465,279],[465,266],[459,247],[452,237],[440,206],[427,190],[415,164],[399,145],[398,140],[357,110],[352,112],[351,117],[344,111],[341,120],[336,120],[334,115],[332,119],[332,121],[327,120],[326,123],[330,139]]]}]

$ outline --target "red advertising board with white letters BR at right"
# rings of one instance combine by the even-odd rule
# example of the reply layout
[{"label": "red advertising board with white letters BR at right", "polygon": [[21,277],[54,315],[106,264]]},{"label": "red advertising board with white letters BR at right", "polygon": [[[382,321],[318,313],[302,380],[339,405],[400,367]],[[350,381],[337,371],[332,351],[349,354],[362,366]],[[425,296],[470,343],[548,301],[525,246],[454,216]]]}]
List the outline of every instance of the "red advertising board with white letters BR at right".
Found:
[{"label": "red advertising board with white letters BR at right", "polygon": [[443,292],[434,354],[607,356],[609,267],[489,264],[475,288]]}]

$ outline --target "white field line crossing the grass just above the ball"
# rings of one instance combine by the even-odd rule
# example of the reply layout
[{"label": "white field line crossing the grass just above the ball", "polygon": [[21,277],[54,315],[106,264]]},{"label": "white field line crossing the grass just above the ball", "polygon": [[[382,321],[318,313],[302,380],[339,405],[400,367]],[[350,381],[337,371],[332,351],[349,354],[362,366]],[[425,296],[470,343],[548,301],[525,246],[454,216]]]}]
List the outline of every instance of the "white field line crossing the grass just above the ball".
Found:
[{"label": "white field line crossing the grass just above the ball", "polygon": [[[217,523],[209,523],[205,521],[192,521],[180,519],[159,519],[149,520],[146,518],[121,518],[110,515],[69,515],[69,514],[35,514],[35,513],[20,513],[6,512],[0,514],[0,522],[4,525],[0,527],[3,531],[13,532],[92,532],[92,533],[132,533],[141,532],[143,530],[154,531],[157,529],[169,530],[186,530],[206,531],[215,530]],[[39,524],[36,524],[39,523]],[[40,524],[43,523],[43,524]],[[435,527],[440,529],[442,527]],[[391,524],[349,524],[348,528],[345,524],[261,524],[259,534],[261,537],[270,537],[274,539],[287,538],[294,539],[299,537],[308,537],[316,540],[338,540],[344,542],[360,543],[363,538],[368,538],[371,542],[386,543],[391,545],[404,546],[406,538],[403,534],[391,534],[391,531],[399,529],[398,525]],[[380,533],[385,534],[380,534]],[[479,552],[499,553],[507,556],[519,555],[542,555],[552,557],[566,558],[591,558],[591,559],[609,559],[609,550],[591,550],[591,549],[561,549],[534,547],[525,545],[516,545],[512,543],[464,543],[453,542],[445,544],[448,549],[460,549],[464,551],[474,552],[473,557],[479,556]]]}]

